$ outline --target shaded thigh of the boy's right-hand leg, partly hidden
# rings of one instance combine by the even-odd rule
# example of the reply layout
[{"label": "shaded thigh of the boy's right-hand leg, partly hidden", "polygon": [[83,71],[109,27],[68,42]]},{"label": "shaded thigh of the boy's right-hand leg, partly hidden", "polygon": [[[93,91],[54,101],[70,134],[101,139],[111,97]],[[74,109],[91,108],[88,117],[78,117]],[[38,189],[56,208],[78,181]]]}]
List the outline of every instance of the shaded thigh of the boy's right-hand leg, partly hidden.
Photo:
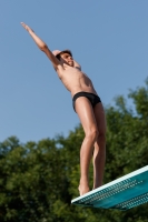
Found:
[{"label": "shaded thigh of the boy's right-hand leg, partly hidden", "polygon": [[96,104],[96,107],[93,108],[93,113],[99,133],[106,133],[106,114],[101,102]]}]

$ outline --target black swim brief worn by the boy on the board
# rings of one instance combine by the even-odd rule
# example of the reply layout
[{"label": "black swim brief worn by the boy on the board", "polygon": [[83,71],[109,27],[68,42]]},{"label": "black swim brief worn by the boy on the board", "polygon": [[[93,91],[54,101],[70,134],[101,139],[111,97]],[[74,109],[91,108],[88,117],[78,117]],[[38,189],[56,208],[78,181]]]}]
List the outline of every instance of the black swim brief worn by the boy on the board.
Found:
[{"label": "black swim brief worn by the boy on the board", "polygon": [[100,98],[97,94],[90,92],[78,92],[72,98],[73,110],[75,110],[75,102],[79,97],[86,97],[90,101],[92,108],[95,108],[97,103],[101,102]]}]

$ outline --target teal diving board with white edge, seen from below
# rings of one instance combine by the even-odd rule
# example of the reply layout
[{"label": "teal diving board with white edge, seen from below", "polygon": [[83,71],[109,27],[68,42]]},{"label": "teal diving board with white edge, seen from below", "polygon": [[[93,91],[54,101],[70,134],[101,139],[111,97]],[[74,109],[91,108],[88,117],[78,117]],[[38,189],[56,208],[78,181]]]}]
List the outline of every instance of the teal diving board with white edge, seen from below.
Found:
[{"label": "teal diving board with white edge, seen from below", "polygon": [[148,165],[71,201],[99,209],[128,210],[148,202]]}]

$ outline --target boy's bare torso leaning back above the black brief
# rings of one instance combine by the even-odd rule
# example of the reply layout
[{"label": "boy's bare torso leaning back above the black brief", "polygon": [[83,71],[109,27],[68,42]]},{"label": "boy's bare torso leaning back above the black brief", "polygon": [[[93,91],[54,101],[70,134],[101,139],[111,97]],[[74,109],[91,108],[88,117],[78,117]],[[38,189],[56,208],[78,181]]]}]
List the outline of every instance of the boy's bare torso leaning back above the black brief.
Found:
[{"label": "boy's bare torso leaning back above the black brief", "polygon": [[63,68],[59,69],[57,72],[72,97],[77,92],[90,92],[97,94],[91,80],[79,69],[63,64]]}]

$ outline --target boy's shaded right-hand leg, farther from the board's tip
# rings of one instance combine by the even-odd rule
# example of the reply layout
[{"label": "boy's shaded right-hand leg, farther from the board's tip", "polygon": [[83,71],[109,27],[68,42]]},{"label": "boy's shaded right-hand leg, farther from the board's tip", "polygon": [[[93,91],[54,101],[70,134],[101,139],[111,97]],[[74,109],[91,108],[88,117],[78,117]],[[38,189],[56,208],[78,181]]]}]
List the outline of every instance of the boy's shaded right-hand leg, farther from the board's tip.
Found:
[{"label": "boy's shaded right-hand leg, farther from the board's tip", "polygon": [[101,103],[96,104],[93,112],[99,131],[93,150],[93,189],[96,189],[102,185],[103,180],[106,161],[106,117]]}]

